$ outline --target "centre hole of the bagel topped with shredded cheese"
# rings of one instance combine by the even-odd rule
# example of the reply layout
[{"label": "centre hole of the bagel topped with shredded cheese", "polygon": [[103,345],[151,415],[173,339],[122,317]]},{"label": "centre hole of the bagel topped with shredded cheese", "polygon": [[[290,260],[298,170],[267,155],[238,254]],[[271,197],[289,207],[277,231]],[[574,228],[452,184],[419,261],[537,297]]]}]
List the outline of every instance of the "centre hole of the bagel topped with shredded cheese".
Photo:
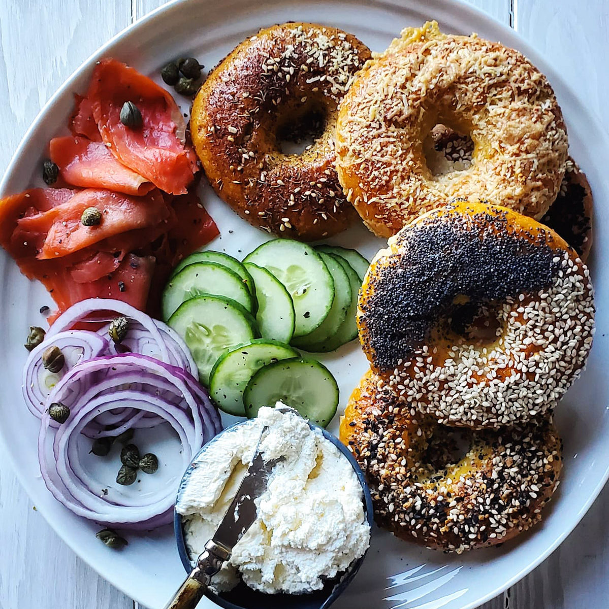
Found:
[{"label": "centre hole of the bagel topped with shredded cheese", "polygon": [[433,177],[440,178],[472,166],[474,141],[463,129],[438,122],[423,139],[423,154]]}]

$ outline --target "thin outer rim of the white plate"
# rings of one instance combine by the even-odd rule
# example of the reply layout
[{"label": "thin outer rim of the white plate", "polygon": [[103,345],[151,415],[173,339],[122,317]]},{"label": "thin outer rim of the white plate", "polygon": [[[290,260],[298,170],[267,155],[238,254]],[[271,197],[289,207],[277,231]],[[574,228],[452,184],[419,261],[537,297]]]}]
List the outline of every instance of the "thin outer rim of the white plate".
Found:
[{"label": "thin outer rim of the white plate", "polygon": [[[330,2],[332,3],[336,1],[337,0],[330,0]],[[35,130],[37,130],[39,125],[43,122],[43,119],[45,118],[48,111],[51,110],[51,108],[54,107],[54,105],[60,99],[62,99],[66,94],[73,93],[73,90],[71,89],[71,87],[73,87],[73,83],[76,82],[76,80],[78,80],[80,77],[82,77],[83,74],[85,74],[88,70],[92,69],[94,63],[98,61],[99,58],[103,57],[110,49],[112,49],[113,46],[115,46],[115,44],[119,43],[124,38],[131,37],[132,35],[137,35],[138,30],[145,29],[152,21],[163,18],[165,13],[169,13],[175,10],[177,7],[180,7],[180,5],[183,5],[183,7],[185,7],[189,4],[208,4],[208,2],[210,2],[210,0],[170,0],[169,2],[166,2],[165,4],[162,4],[156,9],[147,13],[140,19],[137,19],[137,21],[135,21],[134,23],[130,23],[128,26],[124,27],[118,33],[113,35],[113,37],[110,38],[107,42],[99,46],[99,48],[96,49],[93,53],[91,53],[82,63],[80,63],[80,65],[77,66],[77,68],[71,72],[71,74],[63,81],[63,83],[57,88],[57,90],[55,90],[51,97],[49,97],[47,102],[41,107],[40,111],[38,111],[36,117],[24,133],[23,138],[21,138],[20,143],[16,147],[15,152],[13,153],[9,163],[7,164],[4,175],[2,176],[2,180],[0,180],[0,198],[5,197],[8,194],[6,192],[7,185],[10,182],[12,174],[19,167],[19,159],[27,148],[29,138],[32,132],[35,132]],[[410,7],[416,7],[419,10],[423,10],[427,14],[433,11],[434,5],[440,5],[440,7],[442,7],[442,9],[444,10],[444,14],[454,13],[456,7],[456,10],[462,13],[461,16],[463,19],[481,19],[482,21],[491,23],[494,28],[500,30],[500,32],[505,33],[508,38],[516,38],[518,40],[518,50],[525,54],[526,57],[529,58],[535,65],[543,66],[544,74],[546,74],[548,80],[550,81],[550,83],[552,83],[552,88],[557,88],[555,85],[560,83],[560,87],[563,90],[563,93],[567,93],[569,96],[571,96],[572,100],[574,101],[574,105],[585,108],[585,112],[586,114],[588,114],[588,118],[594,120],[594,127],[596,128],[597,134],[599,135],[599,137],[597,138],[597,145],[605,147],[605,149],[609,152],[609,127],[607,127],[604,122],[600,120],[600,116],[597,111],[594,110],[594,108],[589,107],[588,104],[585,104],[579,91],[574,90],[571,84],[567,80],[563,79],[561,74],[554,68],[552,62],[546,59],[545,55],[536,51],[536,49],[533,48],[529,41],[525,40],[525,38],[522,37],[521,33],[519,33],[516,29],[513,29],[512,27],[500,22],[498,19],[495,19],[493,16],[489,15],[482,9],[474,7],[470,4],[466,4],[466,2],[463,0],[360,0],[360,2],[362,4],[368,4],[371,7],[374,7],[375,5],[378,5],[380,7],[382,7],[383,5],[388,5],[390,7],[396,7],[401,9],[404,9],[405,7],[410,5]],[[396,31],[396,35],[398,35],[398,33],[399,32]],[[34,501],[33,487],[30,487],[29,481],[26,476],[24,476],[21,470],[16,467],[16,459],[13,456],[12,451],[10,451],[9,443],[7,442],[7,439],[5,437],[4,426],[2,425],[0,425],[0,443],[2,445],[2,449],[4,449],[5,455],[7,456],[13,473],[15,474],[15,477],[20,482],[21,487],[24,488],[24,490],[26,491],[30,501]],[[514,576],[510,577],[506,582],[502,583],[499,586],[496,586],[494,590],[489,591],[488,593],[481,596],[479,599],[473,600],[467,605],[463,605],[462,609],[475,609],[476,607],[480,607],[480,605],[482,605],[483,603],[493,599],[511,586],[515,585],[515,583],[519,582],[522,578],[524,578],[531,571],[533,571],[533,569],[543,563],[543,561],[545,561],[551,554],[553,554],[563,543],[563,541],[566,540],[566,538],[569,537],[572,532],[574,532],[574,530],[580,524],[583,516],[586,515],[591,505],[593,505],[594,501],[596,501],[596,499],[598,498],[600,491],[602,491],[602,489],[605,487],[605,484],[607,484],[608,480],[609,462],[605,466],[604,474],[600,477],[599,482],[593,489],[591,489],[588,498],[583,503],[579,512],[577,512],[577,514],[575,515],[573,526],[570,529],[563,530],[560,535],[557,535],[557,537],[554,538],[552,543],[550,543],[543,552],[540,552],[540,554],[536,555],[535,558],[533,558],[527,564],[522,566],[522,568],[518,572],[516,572]],[[38,511],[41,513],[43,518],[45,518],[46,523],[48,523],[49,526],[51,526],[51,528],[54,530],[54,532],[60,537],[63,543],[65,543],[79,558],[81,558],[88,566],[90,566],[99,576],[106,579],[109,583],[115,586],[115,588],[126,594],[126,596],[128,596],[129,598],[132,598],[132,594],[129,591],[125,590],[122,585],[119,585],[105,577],[104,574],[100,572],[98,568],[96,568],[96,565],[94,565],[93,561],[89,560],[87,554],[85,554],[84,551],[80,551],[80,546],[68,540],[68,538],[63,534],[63,529],[57,528],[52,524],[52,519],[49,519],[46,516],[46,509],[38,508]],[[134,600],[137,601],[137,599]]]}]

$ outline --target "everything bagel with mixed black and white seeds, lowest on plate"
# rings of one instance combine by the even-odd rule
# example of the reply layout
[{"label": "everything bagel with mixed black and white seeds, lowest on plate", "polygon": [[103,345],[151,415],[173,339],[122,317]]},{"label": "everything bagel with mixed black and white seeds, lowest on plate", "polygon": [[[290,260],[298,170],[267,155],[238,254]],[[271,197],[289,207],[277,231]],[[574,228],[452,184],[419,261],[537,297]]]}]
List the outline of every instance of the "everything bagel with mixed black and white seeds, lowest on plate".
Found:
[{"label": "everything bagel with mixed black and white seeds, lowest on plate", "polygon": [[554,424],[544,418],[462,432],[465,456],[454,435],[454,428],[397,400],[372,371],[363,376],[341,419],[340,439],[366,475],[379,526],[461,553],[504,543],[538,523],[561,470]]}]

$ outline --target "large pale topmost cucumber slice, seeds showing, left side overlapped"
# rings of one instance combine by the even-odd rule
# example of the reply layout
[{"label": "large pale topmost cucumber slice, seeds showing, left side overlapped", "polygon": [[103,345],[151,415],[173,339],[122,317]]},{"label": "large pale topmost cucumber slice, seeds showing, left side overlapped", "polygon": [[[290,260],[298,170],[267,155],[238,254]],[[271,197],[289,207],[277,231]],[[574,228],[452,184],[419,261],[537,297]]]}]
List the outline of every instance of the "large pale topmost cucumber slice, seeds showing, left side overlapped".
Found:
[{"label": "large pale topmost cucumber slice, seeds showing, left side overlapped", "polygon": [[246,256],[271,272],[288,290],[294,303],[294,336],[311,333],[326,319],[334,300],[334,281],[321,256],[291,239],[267,241]]}]

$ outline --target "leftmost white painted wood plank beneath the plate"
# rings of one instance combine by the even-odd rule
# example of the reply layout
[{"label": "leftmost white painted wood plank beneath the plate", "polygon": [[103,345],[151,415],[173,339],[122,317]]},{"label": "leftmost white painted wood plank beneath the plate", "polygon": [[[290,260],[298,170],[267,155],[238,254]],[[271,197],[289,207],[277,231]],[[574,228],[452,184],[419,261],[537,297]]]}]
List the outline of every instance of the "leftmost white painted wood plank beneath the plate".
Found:
[{"label": "leftmost white painted wood plank beneath the plate", "polygon": [[[0,0],[0,172],[46,100],[130,15],[128,0]],[[32,509],[3,452],[0,519],[2,609],[132,609]]]}]

